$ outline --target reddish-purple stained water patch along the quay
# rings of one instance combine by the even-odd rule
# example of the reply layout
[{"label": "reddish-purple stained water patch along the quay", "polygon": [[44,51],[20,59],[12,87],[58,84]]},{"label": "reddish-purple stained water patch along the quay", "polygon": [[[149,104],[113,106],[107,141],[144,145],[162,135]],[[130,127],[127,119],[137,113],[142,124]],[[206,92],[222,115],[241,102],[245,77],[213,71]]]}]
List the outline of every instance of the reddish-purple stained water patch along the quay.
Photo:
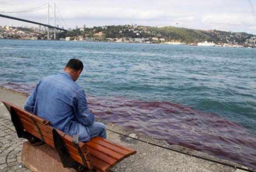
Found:
[{"label": "reddish-purple stained water patch along the quay", "polygon": [[[30,94],[33,86],[0,84]],[[139,132],[256,168],[256,135],[219,115],[167,101],[135,101],[123,97],[87,95],[95,116]]]}]

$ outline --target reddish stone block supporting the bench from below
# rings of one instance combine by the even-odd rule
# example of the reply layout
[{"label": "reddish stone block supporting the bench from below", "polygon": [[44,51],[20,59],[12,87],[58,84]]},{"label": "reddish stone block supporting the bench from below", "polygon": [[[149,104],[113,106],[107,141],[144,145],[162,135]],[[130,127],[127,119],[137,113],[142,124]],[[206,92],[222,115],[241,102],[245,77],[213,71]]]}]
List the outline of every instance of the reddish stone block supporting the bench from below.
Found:
[{"label": "reddish stone block supporting the bench from below", "polygon": [[24,142],[21,161],[33,172],[75,172],[75,169],[64,168],[56,149],[47,144],[34,146]]}]

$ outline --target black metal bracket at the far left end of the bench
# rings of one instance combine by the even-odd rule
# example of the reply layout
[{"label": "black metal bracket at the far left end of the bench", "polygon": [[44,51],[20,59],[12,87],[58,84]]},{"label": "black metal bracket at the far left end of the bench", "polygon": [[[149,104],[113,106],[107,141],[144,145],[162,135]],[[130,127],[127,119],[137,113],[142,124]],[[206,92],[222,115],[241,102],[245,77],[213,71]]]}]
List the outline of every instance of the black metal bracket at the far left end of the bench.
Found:
[{"label": "black metal bracket at the far left end of the bench", "polygon": [[34,135],[31,135],[29,132],[24,130],[20,117],[17,115],[13,107],[10,107],[10,116],[19,138],[26,138],[33,145],[44,144],[39,138],[36,138]]}]

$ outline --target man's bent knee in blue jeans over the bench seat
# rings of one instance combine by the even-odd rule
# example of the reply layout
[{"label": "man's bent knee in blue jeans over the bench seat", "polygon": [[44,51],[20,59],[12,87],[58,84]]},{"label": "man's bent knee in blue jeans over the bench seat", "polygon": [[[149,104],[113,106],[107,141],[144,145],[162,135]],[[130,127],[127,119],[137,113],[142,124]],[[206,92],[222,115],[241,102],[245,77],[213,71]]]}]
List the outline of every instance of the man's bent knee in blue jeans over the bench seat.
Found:
[{"label": "man's bent knee in blue jeans over the bench seat", "polygon": [[94,122],[91,126],[87,128],[89,129],[89,134],[91,138],[96,136],[107,138],[106,126],[101,122]]}]

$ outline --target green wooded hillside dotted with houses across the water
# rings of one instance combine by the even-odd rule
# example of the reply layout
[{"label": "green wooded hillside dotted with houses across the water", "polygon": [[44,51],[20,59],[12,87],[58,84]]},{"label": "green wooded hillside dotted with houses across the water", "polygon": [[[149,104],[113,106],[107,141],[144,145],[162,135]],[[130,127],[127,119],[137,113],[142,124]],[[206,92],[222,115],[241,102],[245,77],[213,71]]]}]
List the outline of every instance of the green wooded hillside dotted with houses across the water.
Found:
[{"label": "green wooded hillside dotted with houses across the water", "polygon": [[198,42],[214,42],[215,44],[232,44],[255,47],[255,35],[244,32],[231,32],[221,30],[195,30],[183,27],[148,27],[148,26],[104,26],[93,28],[80,28],[68,31],[66,37],[91,37],[95,40],[116,40],[123,38],[134,41],[143,38],[146,41],[168,42],[179,41],[186,44]]}]

